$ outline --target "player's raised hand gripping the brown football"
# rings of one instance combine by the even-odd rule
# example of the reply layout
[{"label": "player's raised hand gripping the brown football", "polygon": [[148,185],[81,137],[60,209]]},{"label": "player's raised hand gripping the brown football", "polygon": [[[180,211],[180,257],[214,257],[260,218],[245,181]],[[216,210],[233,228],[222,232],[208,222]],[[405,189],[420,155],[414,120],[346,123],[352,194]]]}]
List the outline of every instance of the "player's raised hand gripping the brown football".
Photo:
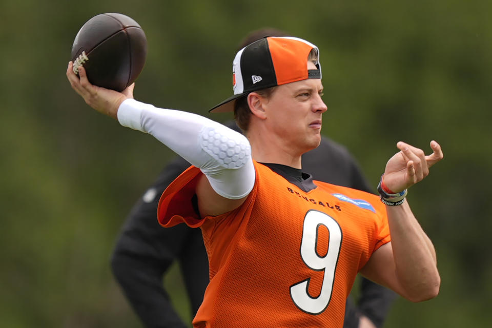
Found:
[{"label": "player's raised hand gripping the brown football", "polygon": [[116,115],[119,105],[121,105],[125,99],[133,98],[133,88],[135,84],[133,83],[121,92],[97,87],[89,82],[86,70],[83,66],[78,68],[79,76],[72,71],[72,67],[73,63],[70,61],[67,67],[67,78],[72,89],[84,98],[87,105],[100,113],[117,119]]}]

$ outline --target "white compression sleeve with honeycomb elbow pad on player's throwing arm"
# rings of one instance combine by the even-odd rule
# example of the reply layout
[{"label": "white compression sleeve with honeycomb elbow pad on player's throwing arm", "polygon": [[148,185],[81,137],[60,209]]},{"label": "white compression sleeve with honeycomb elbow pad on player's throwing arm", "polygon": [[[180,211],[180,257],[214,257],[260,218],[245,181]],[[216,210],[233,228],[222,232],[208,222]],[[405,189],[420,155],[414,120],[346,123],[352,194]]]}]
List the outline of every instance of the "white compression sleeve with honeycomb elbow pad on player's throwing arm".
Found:
[{"label": "white compression sleeve with honeycomb elbow pad on player's throwing arm", "polygon": [[242,134],[200,115],[135,99],[125,100],[117,116],[122,126],[153,135],[199,168],[222,197],[240,199],[253,189],[251,147]]}]

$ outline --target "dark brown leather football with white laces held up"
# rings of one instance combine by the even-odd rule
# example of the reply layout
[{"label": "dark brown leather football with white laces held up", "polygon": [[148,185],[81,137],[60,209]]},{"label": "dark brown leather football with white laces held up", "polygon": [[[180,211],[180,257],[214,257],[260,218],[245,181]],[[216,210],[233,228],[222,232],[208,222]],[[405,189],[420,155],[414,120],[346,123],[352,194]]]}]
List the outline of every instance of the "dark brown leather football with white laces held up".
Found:
[{"label": "dark brown leather football with white laces held up", "polygon": [[83,65],[91,84],[122,91],[144,68],[147,38],[131,17],[99,14],[80,28],[71,55],[75,74]]}]

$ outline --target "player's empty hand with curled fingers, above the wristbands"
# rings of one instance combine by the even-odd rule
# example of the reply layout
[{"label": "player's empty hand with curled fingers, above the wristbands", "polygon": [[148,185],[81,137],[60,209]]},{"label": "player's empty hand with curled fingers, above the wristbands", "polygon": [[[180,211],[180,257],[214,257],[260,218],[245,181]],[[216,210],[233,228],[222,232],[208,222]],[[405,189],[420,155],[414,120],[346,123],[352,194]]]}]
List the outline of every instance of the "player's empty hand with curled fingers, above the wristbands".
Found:
[{"label": "player's empty hand with curled fingers, above the wristbands", "polygon": [[429,168],[443,158],[441,146],[430,141],[433,153],[425,155],[424,151],[399,141],[396,145],[400,151],[386,163],[384,184],[398,193],[421,181],[429,174]]}]

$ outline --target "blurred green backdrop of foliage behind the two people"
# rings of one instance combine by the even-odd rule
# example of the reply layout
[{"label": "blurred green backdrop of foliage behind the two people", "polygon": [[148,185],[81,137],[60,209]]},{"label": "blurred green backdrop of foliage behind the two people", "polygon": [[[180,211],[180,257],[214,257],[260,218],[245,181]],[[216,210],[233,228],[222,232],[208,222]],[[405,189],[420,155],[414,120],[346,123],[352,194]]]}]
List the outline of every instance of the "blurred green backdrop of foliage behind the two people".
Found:
[{"label": "blurred green backdrop of foliage behind the two people", "polygon": [[[442,276],[431,301],[397,300],[385,327],[484,327],[492,321],[492,2],[0,1],[1,327],[139,327],[109,258],[132,207],[173,154],[91,110],[65,70],[92,16],[133,17],[148,38],[135,97],[207,109],[232,93],[239,40],[265,26],[321,50],[323,134],[373,186],[405,140],[445,159],[408,199],[434,240]],[[178,268],[164,283],[189,320]]]}]

